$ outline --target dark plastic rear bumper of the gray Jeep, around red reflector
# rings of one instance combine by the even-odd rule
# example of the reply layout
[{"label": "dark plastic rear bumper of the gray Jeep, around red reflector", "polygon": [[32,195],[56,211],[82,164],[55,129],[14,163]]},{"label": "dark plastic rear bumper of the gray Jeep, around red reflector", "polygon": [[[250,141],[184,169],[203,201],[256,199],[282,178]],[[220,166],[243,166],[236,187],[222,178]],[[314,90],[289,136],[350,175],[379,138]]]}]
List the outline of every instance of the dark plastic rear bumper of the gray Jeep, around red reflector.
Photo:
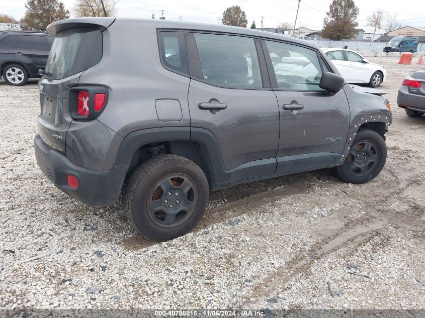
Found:
[{"label": "dark plastic rear bumper of the gray Jeep, around red reflector", "polygon": [[[41,171],[63,192],[87,205],[114,205],[117,202],[127,167],[113,166],[109,171],[79,167],[46,145],[40,135],[34,139],[34,149]],[[78,188],[68,186],[68,174],[77,177]]]}]

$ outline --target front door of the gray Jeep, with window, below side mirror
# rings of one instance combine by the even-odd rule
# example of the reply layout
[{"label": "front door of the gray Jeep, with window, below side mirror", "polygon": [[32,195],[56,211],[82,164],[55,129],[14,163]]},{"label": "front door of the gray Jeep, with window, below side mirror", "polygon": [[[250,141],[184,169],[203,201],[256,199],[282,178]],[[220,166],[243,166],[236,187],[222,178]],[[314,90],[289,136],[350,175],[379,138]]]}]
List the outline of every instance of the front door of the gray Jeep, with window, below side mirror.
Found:
[{"label": "front door of the gray Jeep, with window, below side mirror", "polygon": [[315,50],[284,42],[262,43],[279,103],[277,173],[337,164],[350,124],[344,90],[330,94],[319,87],[325,66]]}]

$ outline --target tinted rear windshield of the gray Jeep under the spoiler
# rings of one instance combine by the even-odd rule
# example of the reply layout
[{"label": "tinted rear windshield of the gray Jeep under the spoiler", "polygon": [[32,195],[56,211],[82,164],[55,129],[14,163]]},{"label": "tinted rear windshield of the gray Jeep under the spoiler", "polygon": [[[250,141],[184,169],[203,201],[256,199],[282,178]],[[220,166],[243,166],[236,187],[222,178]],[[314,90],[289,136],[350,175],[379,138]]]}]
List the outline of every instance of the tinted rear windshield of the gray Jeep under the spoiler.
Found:
[{"label": "tinted rear windshield of the gray Jeep under the spoiler", "polygon": [[98,29],[71,29],[59,32],[46,64],[49,78],[62,79],[98,64],[103,38]]}]

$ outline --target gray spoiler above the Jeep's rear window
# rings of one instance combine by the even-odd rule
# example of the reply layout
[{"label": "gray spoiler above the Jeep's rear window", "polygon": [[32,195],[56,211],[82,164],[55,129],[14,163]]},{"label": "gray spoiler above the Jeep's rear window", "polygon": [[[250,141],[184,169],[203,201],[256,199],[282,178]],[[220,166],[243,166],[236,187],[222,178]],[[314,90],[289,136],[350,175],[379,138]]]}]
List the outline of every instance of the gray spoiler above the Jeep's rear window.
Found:
[{"label": "gray spoiler above the Jeep's rear window", "polygon": [[49,24],[46,28],[46,32],[55,36],[59,32],[76,28],[95,28],[103,31],[114,21],[115,18],[113,17],[66,19]]}]

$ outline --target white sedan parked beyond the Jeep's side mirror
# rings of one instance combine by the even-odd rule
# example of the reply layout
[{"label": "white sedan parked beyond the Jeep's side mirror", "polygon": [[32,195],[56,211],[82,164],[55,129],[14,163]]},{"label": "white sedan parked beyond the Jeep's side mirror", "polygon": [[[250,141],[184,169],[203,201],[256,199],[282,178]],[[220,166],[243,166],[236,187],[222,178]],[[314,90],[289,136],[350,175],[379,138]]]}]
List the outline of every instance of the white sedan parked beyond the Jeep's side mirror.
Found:
[{"label": "white sedan parked beyond the Jeep's side mirror", "polygon": [[322,48],[322,51],[348,83],[368,83],[370,87],[378,87],[387,77],[385,68],[354,51],[338,48]]}]

